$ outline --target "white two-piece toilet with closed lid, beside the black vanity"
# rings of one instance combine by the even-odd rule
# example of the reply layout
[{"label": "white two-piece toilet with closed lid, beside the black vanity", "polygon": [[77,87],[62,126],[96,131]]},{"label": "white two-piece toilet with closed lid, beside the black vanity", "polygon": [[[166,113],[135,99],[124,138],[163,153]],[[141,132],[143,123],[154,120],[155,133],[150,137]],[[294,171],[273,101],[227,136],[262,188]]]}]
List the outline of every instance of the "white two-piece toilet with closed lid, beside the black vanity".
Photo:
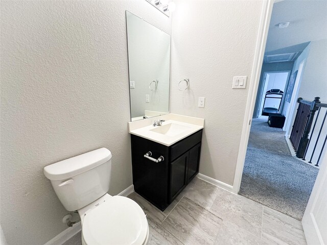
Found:
[{"label": "white two-piece toilet with closed lid, beside the black vanity", "polygon": [[43,173],[68,211],[77,210],[83,245],[147,244],[148,221],[133,200],[107,194],[111,152],[91,151],[44,167]]}]

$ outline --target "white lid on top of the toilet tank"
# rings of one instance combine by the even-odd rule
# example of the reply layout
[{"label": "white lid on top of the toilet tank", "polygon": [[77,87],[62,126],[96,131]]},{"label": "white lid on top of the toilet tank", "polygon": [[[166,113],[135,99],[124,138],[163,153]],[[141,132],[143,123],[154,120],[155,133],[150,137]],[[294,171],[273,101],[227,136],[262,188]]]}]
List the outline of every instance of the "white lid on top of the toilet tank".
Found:
[{"label": "white lid on top of the toilet tank", "polygon": [[111,152],[106,148],[100,148],[46,166],[43,168],[43,173],[49,180],[65,180],[95,168],[110,159]]}]

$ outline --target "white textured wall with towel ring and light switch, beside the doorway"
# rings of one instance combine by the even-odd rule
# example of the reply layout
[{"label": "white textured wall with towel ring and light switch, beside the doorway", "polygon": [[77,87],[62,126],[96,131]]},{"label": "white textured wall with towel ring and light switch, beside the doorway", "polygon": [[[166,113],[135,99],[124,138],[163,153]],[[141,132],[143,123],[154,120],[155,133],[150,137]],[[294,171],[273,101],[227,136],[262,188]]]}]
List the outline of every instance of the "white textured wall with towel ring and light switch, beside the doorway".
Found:
[{"label": "white textured wall with towel ring and light switch, beside the doorway", "polygon": [[[171,112],[205,118],[200,173],[233,184],[261,1],[177,1],[173,13]],[[190,79],[190,88],[177,83]],[[248,87],[248,85],[247,85]],[[205,108],[198,108],[198,97]]]}]

